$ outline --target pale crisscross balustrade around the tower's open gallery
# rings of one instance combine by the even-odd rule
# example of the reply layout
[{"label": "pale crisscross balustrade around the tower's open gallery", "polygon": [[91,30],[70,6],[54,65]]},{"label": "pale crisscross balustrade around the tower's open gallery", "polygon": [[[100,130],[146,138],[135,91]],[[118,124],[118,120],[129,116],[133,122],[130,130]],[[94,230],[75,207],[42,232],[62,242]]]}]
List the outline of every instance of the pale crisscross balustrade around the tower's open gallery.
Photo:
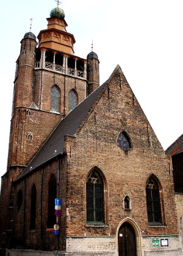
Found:
[{"label": "pale crisscross balustrade around the tower's open gallery", "polygon": [[[40,67],[41,67],[40,61],[35,62],[35,68],[40,69]],[[60,73],[67,73],[68,75],[71,75],[73,77],[84,78],[84,71],[82,70],[71,69],[70,67],[67,67],[64,70],[63,66],[57,65],[48,61],[45,62],[45,69],[54,70]]]}]

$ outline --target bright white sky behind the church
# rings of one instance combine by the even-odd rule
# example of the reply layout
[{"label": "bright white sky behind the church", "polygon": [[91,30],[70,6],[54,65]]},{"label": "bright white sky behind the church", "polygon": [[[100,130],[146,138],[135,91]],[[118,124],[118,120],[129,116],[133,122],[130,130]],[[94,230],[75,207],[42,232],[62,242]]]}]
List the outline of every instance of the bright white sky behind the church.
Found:
[{"label": "bright white sky behind the church", "polygon": [[[15,62],[20,41],[47,28],[54,0],[1,1],[0,175],[7,165]],[[101,84],[120,64],[164,149],[183,132],[182,0],[63,0],[75,55],[98,54]]]}]

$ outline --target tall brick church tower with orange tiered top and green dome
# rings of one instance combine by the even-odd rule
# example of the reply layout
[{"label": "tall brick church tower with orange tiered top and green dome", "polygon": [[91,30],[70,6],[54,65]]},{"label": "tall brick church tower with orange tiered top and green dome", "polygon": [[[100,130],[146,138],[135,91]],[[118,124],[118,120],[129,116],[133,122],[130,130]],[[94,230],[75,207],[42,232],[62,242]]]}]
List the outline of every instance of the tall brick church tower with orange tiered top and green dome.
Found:
[{"label": "tall brick church tower with orange tiered top and green dome", "polygon": [[[66,31],[63,10],[52,9],[47,20],[48,27],[38,34],[38,43],[32,32],[24,35],[16,61],[7,166],[13,179],[59,121],[99,85],[99,79],[93,80],[91,75],[91,69],[98,70],[98,57],[74,55],[75,39]],[[91,67],[88,72],[87,64]]]}]

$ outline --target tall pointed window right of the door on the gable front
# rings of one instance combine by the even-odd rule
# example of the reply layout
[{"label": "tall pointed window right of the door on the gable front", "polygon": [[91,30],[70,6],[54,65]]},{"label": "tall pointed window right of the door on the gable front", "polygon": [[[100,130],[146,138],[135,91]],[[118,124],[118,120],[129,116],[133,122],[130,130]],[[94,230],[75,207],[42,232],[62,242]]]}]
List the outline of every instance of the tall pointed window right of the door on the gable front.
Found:
[{"label": "tall pointed window right of the door on the gable front", "polygon": [[151,176],[146,183],[146,203],[149,224],[161,224],[161,206],[159,186],[156,179]]}]

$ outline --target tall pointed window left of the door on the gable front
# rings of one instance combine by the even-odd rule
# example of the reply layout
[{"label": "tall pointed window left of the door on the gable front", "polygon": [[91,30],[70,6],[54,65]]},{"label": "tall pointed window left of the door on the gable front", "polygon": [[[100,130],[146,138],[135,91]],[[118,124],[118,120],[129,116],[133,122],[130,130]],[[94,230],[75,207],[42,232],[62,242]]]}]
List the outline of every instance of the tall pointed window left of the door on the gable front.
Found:
[{"label": "tall pointed window left of the door on the gable front", "polygon": [[87,179],[87,221],[104,222],[104,184],[96,170]]}]

